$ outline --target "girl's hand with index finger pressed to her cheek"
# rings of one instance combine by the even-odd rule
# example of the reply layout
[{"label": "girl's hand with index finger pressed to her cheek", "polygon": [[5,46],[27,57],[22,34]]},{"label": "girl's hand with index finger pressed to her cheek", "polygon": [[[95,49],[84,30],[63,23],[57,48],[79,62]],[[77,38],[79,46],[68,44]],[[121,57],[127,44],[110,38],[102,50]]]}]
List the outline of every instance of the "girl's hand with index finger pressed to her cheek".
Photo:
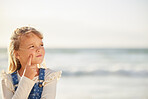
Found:
[{"label": "girl's hand with index finger pressed to her cheek", "polygon": [[32,55],[29,56],[27,64],[26,64],[25,69],[24,69],[24,73],[23,73],[25,77],[27,77],[31,80],[35,77],[35,75],[38,74],[37,64],[31,65],[32,57],[33,57]]}]

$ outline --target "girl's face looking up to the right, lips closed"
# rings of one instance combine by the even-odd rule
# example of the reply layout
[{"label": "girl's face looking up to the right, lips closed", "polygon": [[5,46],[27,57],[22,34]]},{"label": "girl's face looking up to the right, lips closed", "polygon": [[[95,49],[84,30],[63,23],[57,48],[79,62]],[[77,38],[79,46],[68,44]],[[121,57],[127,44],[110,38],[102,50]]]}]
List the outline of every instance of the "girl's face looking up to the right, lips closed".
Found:
[{"label": "girl's face looking up to the right, lips closed", "polygon": [[33,33],[21,37],[20,47],[16,52],[22,66],[26,65],[30,55],[32,55],[31,64],[42,63],[45,55],[42,39]]}]

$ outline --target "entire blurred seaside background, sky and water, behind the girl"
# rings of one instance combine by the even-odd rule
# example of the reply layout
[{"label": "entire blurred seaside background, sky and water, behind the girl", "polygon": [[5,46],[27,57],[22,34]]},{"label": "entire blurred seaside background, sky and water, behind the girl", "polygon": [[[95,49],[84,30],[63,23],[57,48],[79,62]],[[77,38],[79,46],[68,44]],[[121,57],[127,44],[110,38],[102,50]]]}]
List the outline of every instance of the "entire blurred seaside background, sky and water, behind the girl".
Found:
[{"label": "entire blurred seaside background, sky and water, behind the girl", "polygon": [[22,26],[43,33],[47,67],[63,71],[56,99],[148,99],[147,0],[0,0],[0,71]]}]

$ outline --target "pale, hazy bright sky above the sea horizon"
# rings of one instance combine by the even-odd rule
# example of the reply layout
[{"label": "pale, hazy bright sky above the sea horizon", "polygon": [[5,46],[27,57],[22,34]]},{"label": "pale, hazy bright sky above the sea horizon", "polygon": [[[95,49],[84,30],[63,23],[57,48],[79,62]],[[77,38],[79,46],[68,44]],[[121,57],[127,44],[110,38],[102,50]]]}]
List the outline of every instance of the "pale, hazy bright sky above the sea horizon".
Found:
[{"label": "pale, hazy bright sky above the sea horizon", "polygon": [[148,48],[148,1],[0,0],[0,48],[23,26],[47,48]]}]

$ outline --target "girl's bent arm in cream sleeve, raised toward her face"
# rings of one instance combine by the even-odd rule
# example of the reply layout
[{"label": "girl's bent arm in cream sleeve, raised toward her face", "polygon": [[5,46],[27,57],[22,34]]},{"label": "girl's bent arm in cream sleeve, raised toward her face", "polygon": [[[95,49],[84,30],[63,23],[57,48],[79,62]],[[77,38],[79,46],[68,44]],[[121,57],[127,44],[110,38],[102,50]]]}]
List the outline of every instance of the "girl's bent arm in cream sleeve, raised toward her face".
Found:
[{"label": "girl's bent arm in cream sleeve, raised toward her face", "polygon": [[22,76],[15,92],[10,79],[2,79],[1,84],[3,99],[27,99],[35,82],[25,76]]}]

